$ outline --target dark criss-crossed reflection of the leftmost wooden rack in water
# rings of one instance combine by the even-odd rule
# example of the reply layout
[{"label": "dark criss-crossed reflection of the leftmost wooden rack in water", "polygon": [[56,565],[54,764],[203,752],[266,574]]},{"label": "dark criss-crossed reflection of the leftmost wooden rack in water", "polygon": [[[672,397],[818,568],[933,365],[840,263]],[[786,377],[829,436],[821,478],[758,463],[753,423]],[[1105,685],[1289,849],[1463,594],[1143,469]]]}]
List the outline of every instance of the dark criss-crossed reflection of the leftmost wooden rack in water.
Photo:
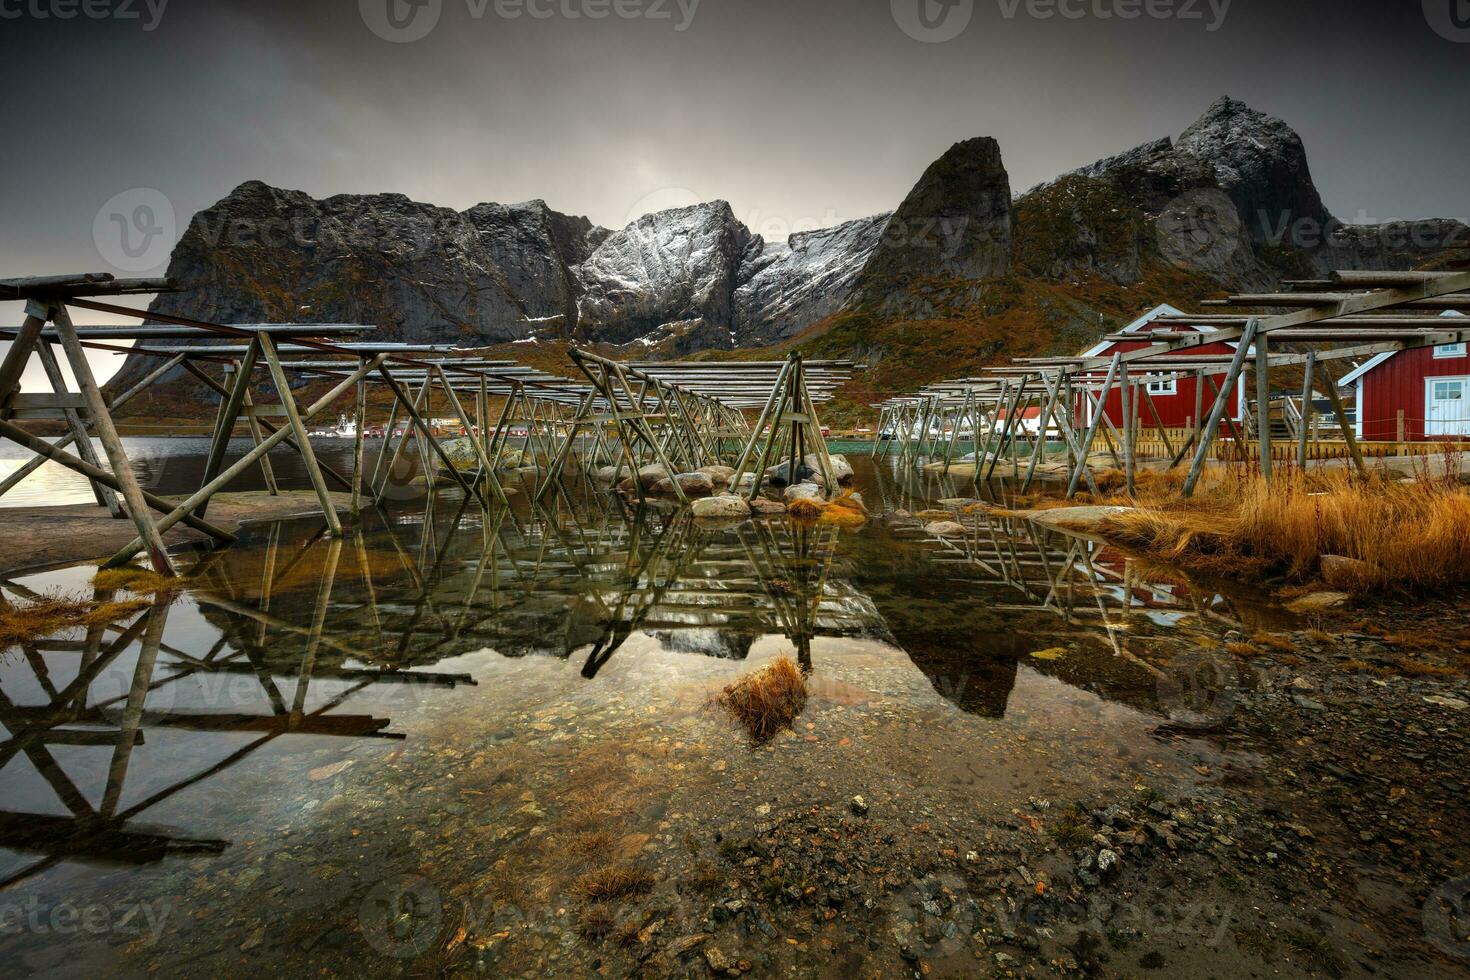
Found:
[{"label": "dark criss-crossed reflection of the leftmost wooden rack in water", "polygon": [[[21,645],[31,677],[46,692],[49,702],[44,705],[15,704],[0,688],[0,724],[4,724],[10,732],[10,738],[0,742],[0,768],[24,758],[47,782],[69,815],[0,811],[0,846],[41,855],[40,861],[0,877],[0,887],[32,877],[68,860],[146,864],[171,854],[218,854],[228,846],[226,840],[194,839],[157,827],[135,829],[131,824],[165,799],[228,770],[284,735],[403,738],[384,730],[390,724],[388,718],[337,713],[338,707],[369,685],[382,682],[435,686],[473,683],[466,674],[426,674],[316,664],[318,648],[326,639],[323,635],[325,611],[335,576],[335,561],[331,560],[331,554],[341,551],[343,541],[332,538],[326,547],[329,558],[323,564],[318,589],[316,608],[319,614],[310,629],[291,630],[291,635],[306,633],[309,636],[307,648],[298,660],[272,652],[275,646],[266,642],[266,630],[279,630],[287,626],[285,623],[265,613],[259,617],[241,614],[238,610],[248,607],[240,602],[231,602],[237,613],[226,619],[226,629],[203,657],[185,654],[165,642],[169,599],[157,599],[128,624],[91,626],[79,639],[47,639]],[[273,561],[275,555],[272,554],[270,564],[268,564],[268,579]],[[16,595],[38,598],[19,583],[0,582],[0,586]],[[269,595],[269,580],[266,595]],[[106,602],[115,598],[115,594],[97,591],[94,598],[97,602]],[[3,594],[0,594],[0,602],[3,601]],[[110,633],[116,633],[116,636],[110,636]],[[310,639],[312,636],[315,639]],[[234,652],[225,655],[226,648]],[[94,686],[106,670],[129,649],[137,649],[137,663],[126,693],[93,701]],[[47,654],[71,654],[78,658],[76,676],[63,688],[57,688],[51,679],[46,661]],[[169,660],[162,661],[163,655]],[[256,677],[269,705],[269,713],[200,711],[172,705],[169,710],[148,708],[148,696],[160,688],[178,685],[184,677],[203,673],[244,673]],[[275,677],[279,674],[294,676],[294,691],[290,701],[276,686]],[[312,680],[326,679],[344,682],[345,688],[322,705],[309,708],[309,685]],[[185,776],[123,808],[121,801],[129,765],[135,749],[146,745],[148,729],[253,735],[257,738],[204,770]],[[94,807],[62,768],[50,751],[54,745],[112,748],[112,761],[107,767],[100,805]]]}]

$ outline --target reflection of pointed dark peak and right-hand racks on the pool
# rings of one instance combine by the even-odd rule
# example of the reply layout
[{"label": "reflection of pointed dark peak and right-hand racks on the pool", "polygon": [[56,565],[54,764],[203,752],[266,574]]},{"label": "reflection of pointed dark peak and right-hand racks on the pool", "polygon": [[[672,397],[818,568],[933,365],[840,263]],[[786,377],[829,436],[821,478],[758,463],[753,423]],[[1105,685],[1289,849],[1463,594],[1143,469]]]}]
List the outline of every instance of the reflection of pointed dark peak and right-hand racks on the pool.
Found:
[{"label": "reflection of pointed dark peak and right-hand racks on the pool", "polygon": [[[976,485],[878,460],[872,495],[888,514],[864,542],[856,585],[886,629],[957,707],[1004,717],[1017,667],[1064,680],[1176,720],[1186,655],[1217,673],[1233,670],[1222,638],[1244,639],[1282,623],[1279,607],[1223,583],[1200,583],[1150,566],[1100,538],[1005,513],[1014,486]],[[936,520],[963,533],[929,533]],[[895,547],[903,542],[903,548]],[[907,558],[888,560],[888,551]],[[1205,680],[1185,688],[1208,696]]]}]

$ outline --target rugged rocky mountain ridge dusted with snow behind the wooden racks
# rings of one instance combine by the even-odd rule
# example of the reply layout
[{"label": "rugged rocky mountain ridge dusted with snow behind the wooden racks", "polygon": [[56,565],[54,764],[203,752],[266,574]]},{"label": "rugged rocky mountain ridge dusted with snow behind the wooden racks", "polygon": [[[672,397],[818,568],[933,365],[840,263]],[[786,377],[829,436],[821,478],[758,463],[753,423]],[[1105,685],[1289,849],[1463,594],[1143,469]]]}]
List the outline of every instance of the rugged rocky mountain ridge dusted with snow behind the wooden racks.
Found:
[{"label": "rugged rocky mountain ridge dusted with snow behind the wooden racks", "polygon": [[[1014,197],[997,141],[961,140],[892,212],[770,242],[728,201],[607,229],[539,198],[454,212],[401,194],[315,200],[247,181],[194,216],[168,270],[191,288],[160,294],[150,310],[225,323],[365,322],[385,339],[466,347],[597,344],[638,357],[816,345],[861,354],[879,372],[895,338],[922,351],[928,331],[973,339],[960,359],[973,367],[1070,353],[1130,307],[1333,267],[1417,266],[1466,232],[1455,219],[1336,222],[1295,131],[1222,97],[1176,138]],[[986,339],[1019,310],[1032,319]],[[129,359],[122,381],[141,361]]]}]

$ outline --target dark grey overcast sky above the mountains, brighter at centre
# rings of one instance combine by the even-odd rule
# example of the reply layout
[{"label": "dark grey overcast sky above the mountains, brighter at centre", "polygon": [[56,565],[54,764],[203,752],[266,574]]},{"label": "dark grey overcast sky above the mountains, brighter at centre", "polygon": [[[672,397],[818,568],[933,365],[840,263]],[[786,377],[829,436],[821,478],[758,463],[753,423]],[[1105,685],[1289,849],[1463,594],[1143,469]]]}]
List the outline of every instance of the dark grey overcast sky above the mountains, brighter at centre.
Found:
[{"label": "dark grey overcast sky above the mountains, brighter at centre", "polygon": [[[894,207],[966,137],[1000,140],[1023,191],[1222,94],[1301,132],[1344,219],[1470,213],[1470,29],[1429,25],[1463,0],[1233,0],[1214,31],[1210,0],[1133,21],[973,0],[944,43],[898,25],[936,0],[698,0],[682,31],[692,0],[601,21],[560,9],[613,0],[498,0],[553,12],[517,19],[419,1],[437,26],[394,44],[366,19],[406,0],[168,0],[151,31],[148,0],[0,0],[0,273],[106,269],[93,223],[113,195],[160,191],[182,226],[251,178],[456,209],[541,197],[612,226],[720,197],[784,235]],[[66,3],[140,16],[32,15]]]}]

